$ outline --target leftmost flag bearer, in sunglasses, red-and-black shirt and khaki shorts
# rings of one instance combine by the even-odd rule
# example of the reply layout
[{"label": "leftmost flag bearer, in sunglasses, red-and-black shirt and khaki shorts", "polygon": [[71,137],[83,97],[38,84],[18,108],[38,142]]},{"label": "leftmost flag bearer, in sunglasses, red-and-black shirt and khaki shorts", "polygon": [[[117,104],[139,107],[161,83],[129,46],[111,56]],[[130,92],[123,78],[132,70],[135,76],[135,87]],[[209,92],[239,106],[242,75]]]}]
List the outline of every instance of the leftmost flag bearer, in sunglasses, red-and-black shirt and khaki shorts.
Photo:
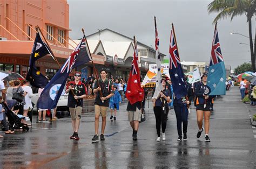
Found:
[{"label": "leftmost flag bearer, in sunglasses, red-and-black shirt and khaki shorts", "polygon": [[[70,139],[79,140],[78,130],[80,125],[80,118],[82,116],[83,99],[86,97],[86,87],[84,83],[80,81],[81,73],[75,72],[75,81],[69,82],[66,87],[66,93],[68,96],[68,107],[71,115],[71,122],[73,128],[73,135]],[[72,90],[72,91],[70,91]]]}]

